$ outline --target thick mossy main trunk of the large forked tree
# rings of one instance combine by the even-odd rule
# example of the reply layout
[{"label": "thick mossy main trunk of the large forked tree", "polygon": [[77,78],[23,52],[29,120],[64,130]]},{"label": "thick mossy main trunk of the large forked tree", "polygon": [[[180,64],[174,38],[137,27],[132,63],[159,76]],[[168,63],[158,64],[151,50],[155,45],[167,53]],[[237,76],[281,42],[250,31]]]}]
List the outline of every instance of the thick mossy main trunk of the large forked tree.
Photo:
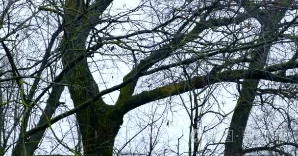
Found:
[{"label": "thick mossy main trunk of the large forked tree", "polygon": [[[84,56],[65,76],[65,81],[70,84],[68,89],[76,107],[94,98],[99,93],[99,87],[89,69],[85,50],[90,28],[85,29],[86,22],[82,20],[73,20],[76,12],[71,10],[67,13],[69,15],[65,17],[66,24],[67,21],[71,22],[65,25],[64,36],[60,43],[64,68],[67,68],[69,62]],[[100,98],[87,108],[79,110],[76,119],[79,123],[78,133],[82,136],[84,156],[112,156],[115,137],[123,123],[123,114],[119,113],[115,106],[107,105]]]}]

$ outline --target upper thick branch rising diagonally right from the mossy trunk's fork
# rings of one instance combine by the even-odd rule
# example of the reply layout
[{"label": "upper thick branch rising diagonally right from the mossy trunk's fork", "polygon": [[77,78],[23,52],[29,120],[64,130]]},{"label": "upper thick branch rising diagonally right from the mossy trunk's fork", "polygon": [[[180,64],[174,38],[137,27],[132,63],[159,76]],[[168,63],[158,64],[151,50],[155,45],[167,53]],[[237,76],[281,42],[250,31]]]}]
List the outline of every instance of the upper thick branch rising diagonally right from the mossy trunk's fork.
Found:
[{"label": "upper thick branch rising diagonally right from the mossy trunk's fork", "polygon": [[[141,60],[141,62],[137,65],[136,68],[134,68],[130,73],[128,73],[125,77],[124,80],[126,78],[131,77],[134,73],[138,72],[139,68],[143,68],[144,69],[144,64],[148,65],[148,62],[151,60],[162,60],[165,59],[166,57],[168,57],[173,51],[175,51],[176,49],[182,47],[183,45],[187,44],[188,42],[193,41],[194,39],[197,39],[199,37],[199,34],[201,32],[203,32],[204,30],[210,28],[210,27],[219,27],[219,26],[224,26],[224,25],[228,25],[231,23],[236,23],[239,24],[241,21],[244,21],[246,19],[248,19],[248,16],[239,16],[236,17],[234,20],[231,19],[209,19],[209,20],[201,20],[200,22],[198,22],[196,24],[196,26],[187,34],[185,35],[177,35],[176,37],[174,37],[173,39],[171,39],[171,41],[169,42],[169,44],[166,44],[162,47],[160,47],[158,50],[153,51],[151,53],[151,55],[146,58]],[[228,49],[223,48],[223,50],[221,52],[214,52],[214,53],[210,53],[207,54],[208,56],[212,56],[212,55],[216,55],[219,53],[224,53],[225,51],[227,51]],[[236,49],[234,49],[236,50]],[[181,62],[182,64],[187,64],[187,63],[192,63],[197,61],[198,59],[204,58],[206,57],[206,55],[201,55],[197,58],[194,59],[188,59],[188,60],[184,60],[183,62]],[[148,70],[154,63],[150,64],[146,70]],[[165,66],[161,66],[156,70],[151,70],[149,71],[147,74],[152,74],[154,72],[157,72],[159,70],[162,69],[168,69],[170,67],[179,65],[179,63],[176,63],[175,65],[171,64],[171,65],[165,65]],[[117,104],[121,104],[122,100],[124,100],[125,98],[128,98],[129,96],[131,96],[133,94],[135,85],[136,85],[137,80],[135,80],[134,82],[131,82],[130,84],[128,84],[127,86],[125,86],[124,88],[121,89],[120,92],[120,96],[117,100]]]}]

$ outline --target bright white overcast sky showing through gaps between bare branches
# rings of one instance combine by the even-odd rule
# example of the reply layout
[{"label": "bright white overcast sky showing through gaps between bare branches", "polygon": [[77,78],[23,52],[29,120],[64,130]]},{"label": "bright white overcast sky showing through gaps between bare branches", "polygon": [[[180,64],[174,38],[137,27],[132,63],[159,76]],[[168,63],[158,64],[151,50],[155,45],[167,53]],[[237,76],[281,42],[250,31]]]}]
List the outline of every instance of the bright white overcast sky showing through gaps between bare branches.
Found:
[{"label": "bright white overcast sky showing through gaps between bare branches", "polygon": [[[114,0],[113,4],[111,6],[111,11],[109,15],[117,15],[119,12],[124,12],[127,9],[133,9],[139,5],[141,0]],[[25,14],[25,13],[24,13]],[[130,20],[144,20],[144,17],[142,15],[134,15],[130,16]],[[146,20],[152,20],[147,18]],[[156,20],[156,19],[153,19]],[[144,23],[146,25],[148,23]],[[124,25],[125,26],[125,25]],[[148,29],[152,28],[152,25],[147,25]],[[135,27],[131,27],[130,25],[125,26],[127,28],[126,30],[134,30],[136,29]],[[125,31],[126,31],[125,30]],[[118,29],[114,30],[113,33],[114,35],[123,35],[126,34],[127,32],[122,31],[121,27],[118,27]],[[212,32],[210,32],[212,33]],[[206,36],[205,38],[213,39],[212,35]],[[216,39],[215,39],[216,40]],[[42,42],[40,42],[41,46],[43,45]],[[26,46],[30,46],[28,44],[25,44]],[[38,47],[38,46],[37,46]],[[115,50],[121,50],[120,48],[117,48],[115,46]],[[42,48],[41,48],[42,49]],[[38,49],[36,49],[37,51]],[[273,54],[273,53],[271,53]],[[276,55],[276,54],[274,54]],[[272,57],[274,57],[274,55]],[[289,54],[291,55],[291,54]],[[283,57],[284,55],[281,54],[279,57]],[[105,57],[107,58],[107,57]],[[278,57],[277,57],[278,58]],[[103,59],[99,57],[99,55],[95,55],[93,58],[95,60]],[[88,59],[90,62],[92,59]],[[274,61],[273,61],[274,62]],[[117,64],[117,68],[116,65]],[[270,63],[270,62],[269,62]],[[99,69],[97,68],[91,68],[91,71],[93,72],[93,76],[97,83],[99,84],[99,90],[103,90],[109,87],[112,87],[116,84],[119,84],[122,82],[122,78],[130,71],[132,68],[131,65],[128,65],[127,63],[124,63],[122,61],[111,61],[111,60],[105,60],[104,62],[98,62]],[[101,68],[104,68],[103,70]],[[100,74],[99,74],[100,71]],[[156,78],[158,79],[158,78]],[[159,78],[160,79],[160,78]],[[158,80],[159,80],[158,79]],[[104,80],[104,82],[103,82]],[[144,91],[144,84],[143,80],[145,78],[141,78],[138,82],[138,87],[137,87],[137,93]],[[153,79],[154,81],[154,79]],[[105,85],[103,85],[103,83]],[[154,86],[153,86],[154,87]],[[152,88],[147,88],[147,90],[152,89]],[[104,101],[107,104],[114,104],[115,101],[118,98],[119,91],[112,92],[108,95],[105,95]],[[228,113],[230,112],[235,104],[236,104],[236,99],[234,95],[232,94],[237,94],[237,89],[235,87],[235,84],[231,83],[231,85],[226,86],[226,85],[221,85],[217,88],[217,90],[214,92],[214,98],[210,98],[209,101],[207,102],[209,106],[212,106],[214,110],[218,110],[217,106],[215,103],[217,101],[219,103],[224,103],[224,106],[222,105],[221,107],[224,108],[224,112]],[[204,95],[204,93],[202,93]],[[186,94],[182,94],[182,98],[185,101],[189,101],[189,97]],[[217,100],[217,101],[216,101]],[[69,109],[73,108],[73,104],[71,101],[71,98],[68,94],[67,89],[65,89],[64,93],[62,94],[61,100],[60,101],[65,101],[67,103],[67,108],[61,108],[59,107],[56,111],[56,115],[60,114],[61,112],[65,112]],[[186,105],[189,107],[190,102],[186,102]],[[155,124],[155,129],[158,128],[159,125],[160,127],[160,133],[157,141],[159,142],[155,149],[156,152],[163,152],[164,149],[171,149],[173,151],[177,151],[177,141],[178,138],[180,138],[182,135],[183,137],[180,139],[180,146],[179,150],[180,153],[187,152],[188,151],[188,139],[189,139],[189,126],[190,126],[190,119],[187,116],[187,113],[182,105],[182,102],[178,96],[175,96],[173,98],[167,98],[155,102],[151,102],[149,104],[143,105],[137,109],[134,109],[127,113],[124,116],[124,124],[122,125],[120,132],[118,136],[116,137],[115,141],[115,147],[117,149],[121,148],[124,143],[131,139],[136,133],[138,133],[141,129],[143,129],[152,119],[152,112],[155,111],[154,119],[158,119],[158,121]],[[160,115],[164,113],[160,117]],[[257,111],[254,113],[258,113]],[[231,115],[230,115],[231,116]],[[75,120],[74,116],[67,117],[68,119],[63,119],[53,125],[53,129],[55,131],[55,134],[62,139],[63,141],[69,145],[70,147],[73,147],[76,143],[73,140],[73,135],[76,136],[76,128],[75,128]],[[163,123],[161,123],[163,121]],[[203,118],[202,125],[209,125],[210,123],[214,122],[214,116],[205,116]],[[167,126],[167,122],[169,122],[169,125]],[[216,128],[217,131],[223,132],[224,128],[228,127],[229,120],[224,120],[223,124],[218,126]],[[153,136],[156,136],[156,131],[154,131],[155,134],[153,133]],[[214,131],[213,131],[214,132]],[[142,133],[138,135],[138,137],[135,137],[130,144],[127,145],[127,147],[130,147],[130,151],[134,153],[142,153],[145,150],[145,148],[149,148],[148,146],[148,138],[150,135],[150,129],[147,127]],[[219,133],[217,134],[219,135]],[[223,141],[225,138],[223,138]],[[55,145],[58,144],[55,141],[54,137],[51,137],[51,132],[48,130],[48,133],[44,140],[42,141],[41,148],[40,150],[36,151],[36,154],[70,154],[65,150],[61,145],[59,145],[57,148],[54,148]],[[51,151],[54,148],[54,151]],[[128,148],[124,148],[124,151],[127,151]],[[9,154],[9,153],[8,153]],[[174,153],[172,153],[174,155]],[[187,155],[187,154],[184,154]]]}]

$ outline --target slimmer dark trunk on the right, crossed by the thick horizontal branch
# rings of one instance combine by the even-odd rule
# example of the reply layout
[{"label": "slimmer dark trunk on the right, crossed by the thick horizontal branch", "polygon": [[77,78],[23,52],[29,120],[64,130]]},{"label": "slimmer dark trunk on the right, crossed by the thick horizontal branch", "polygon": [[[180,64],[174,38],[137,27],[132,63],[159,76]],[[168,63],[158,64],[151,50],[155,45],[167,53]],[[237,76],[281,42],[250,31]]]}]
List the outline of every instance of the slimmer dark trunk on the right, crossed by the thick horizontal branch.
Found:
[{"label": "slimmer dark trunk on the right, crossed by the thick horizontal branch", "polygon": [[[271,10],[273,11],[273,10]],[[264,14],[259,16],[258,20],[262,23],[263,32],[259,37],[260,40],[273,39],[277,34],[275,24],[278,23],[285,11],[274,10],[271,14]],[[267,58],[270,52],[271,44],[256,48],[251,53],[252,62],[249,64],[248,69],[253,74],[253,71],[264,69]],[[253,106],[257,88],[260,80],[244,79],[242,89],[234,109],[231,119],[228,137],[226,138],[224,156],[242,156],[243,138],[248,122],[248,117]]]}]

